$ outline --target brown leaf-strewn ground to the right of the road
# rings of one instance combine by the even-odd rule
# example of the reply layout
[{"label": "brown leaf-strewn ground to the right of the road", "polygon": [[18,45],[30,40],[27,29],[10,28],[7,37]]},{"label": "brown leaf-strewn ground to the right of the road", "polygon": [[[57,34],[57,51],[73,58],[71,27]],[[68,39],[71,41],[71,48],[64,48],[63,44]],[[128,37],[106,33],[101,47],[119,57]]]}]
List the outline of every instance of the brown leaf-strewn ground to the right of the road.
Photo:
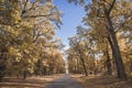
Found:
[{"label": "brown leaf-strewn ground to the right of the road", "polygon": [[85,88],[132,88],[132,79],[120,81],[116,77],[110,76],[74,76]]}]

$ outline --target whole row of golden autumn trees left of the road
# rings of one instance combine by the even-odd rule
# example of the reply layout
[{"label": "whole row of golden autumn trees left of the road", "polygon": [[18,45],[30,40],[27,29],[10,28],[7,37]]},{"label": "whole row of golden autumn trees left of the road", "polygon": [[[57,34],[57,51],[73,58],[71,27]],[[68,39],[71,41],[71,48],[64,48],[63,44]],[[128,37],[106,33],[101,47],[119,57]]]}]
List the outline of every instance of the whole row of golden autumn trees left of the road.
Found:
[{"label": "whole row of golden autumn trees left of the road", "polygon": [[0,81],[65,73],[61,16],[52,0],[0,0]]}]

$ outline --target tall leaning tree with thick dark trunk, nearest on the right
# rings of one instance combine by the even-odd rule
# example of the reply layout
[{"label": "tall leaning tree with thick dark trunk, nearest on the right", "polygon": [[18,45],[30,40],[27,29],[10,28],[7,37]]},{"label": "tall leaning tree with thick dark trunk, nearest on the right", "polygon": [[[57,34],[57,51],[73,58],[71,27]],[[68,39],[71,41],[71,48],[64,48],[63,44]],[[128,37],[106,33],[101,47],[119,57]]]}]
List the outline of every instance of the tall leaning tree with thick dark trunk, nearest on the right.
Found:
[{"label": "tall leaning tree with thick dark trunk, nearest on the right", "polygon": [[[101,23],[108,32],[110,46],[116,59],[118,77],[121,80],[127,80],[127,74],[119,48],[119,42],[117,40],[117,32],[123,30],[123,28],[130,29],[130,24],[127,25],[127,23],[130,22],[130,19],[132,18],[132,9],[130,8],[130,1],[125,0],[92,0],[92,3],[86,3],[85,6],[88,15],[88,18],[85,20],[87,22],[86,24],[91,26],[100,26]],[[98,25],[94,25],[94,21],[98,21]]]}]

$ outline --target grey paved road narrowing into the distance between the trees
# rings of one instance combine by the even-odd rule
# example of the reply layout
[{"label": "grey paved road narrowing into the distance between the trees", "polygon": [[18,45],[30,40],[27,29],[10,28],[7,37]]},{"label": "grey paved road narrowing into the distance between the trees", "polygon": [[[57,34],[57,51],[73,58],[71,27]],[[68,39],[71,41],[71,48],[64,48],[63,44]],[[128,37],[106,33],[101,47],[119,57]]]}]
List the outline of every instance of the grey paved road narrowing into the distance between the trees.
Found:
[{"label": "grey paved road narrowing into the distance between the trees", "polygon": [[72,78],[70,75],[64,75],[51,85],[44,88],[84,88],[82,85],[76,79]]}]

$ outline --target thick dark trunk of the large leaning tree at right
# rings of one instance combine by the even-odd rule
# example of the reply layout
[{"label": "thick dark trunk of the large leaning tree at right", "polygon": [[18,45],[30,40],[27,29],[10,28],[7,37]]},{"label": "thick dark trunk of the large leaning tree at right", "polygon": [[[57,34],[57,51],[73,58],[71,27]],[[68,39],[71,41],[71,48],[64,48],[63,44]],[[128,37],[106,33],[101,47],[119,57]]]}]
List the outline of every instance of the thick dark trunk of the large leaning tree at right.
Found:
[{"label": "thick dark trunk of the large leaning tree at right", "polygon": [[112,21],[111,21],[109,15],[107,15],[107,20],[109,22],[108,31],[110,33],[111,41],[112,41],[112,52],[113,52],[113,56],[114,56],[114,59],[116,59],[118,77],[121,80],[127,80],[127,74],[125,74],[123,61],[122,61],[122,57],[121,57],[118,40],[117,40],[116,33],[114,33],[114,29],[112,26]]}]

